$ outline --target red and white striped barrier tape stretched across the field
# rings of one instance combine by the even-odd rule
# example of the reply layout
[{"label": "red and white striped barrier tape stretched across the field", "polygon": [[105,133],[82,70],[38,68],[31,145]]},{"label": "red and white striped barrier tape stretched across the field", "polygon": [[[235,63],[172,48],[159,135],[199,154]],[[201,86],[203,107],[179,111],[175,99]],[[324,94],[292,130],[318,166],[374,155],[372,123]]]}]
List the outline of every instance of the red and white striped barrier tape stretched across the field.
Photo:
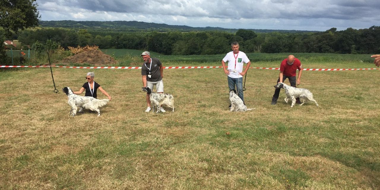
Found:
[{"label": "red and white striped barrier tape stretched across the field", "polygon": [[[24,66],[24,65],[0,65],[0,68],[22,68],[22,67],[60,67],[79,69],[141,69],[141,67],[68,67],[68,66]],[[211,67],[163,67],[164,69],[201,69],[201,68],[223,68],[222,66]],[[280,68],[250,67],[254,69],[280,70]],[[357,68],[357,69],[302,69],[303,71],[351,71],[351,70],[380,70],[380,68]]]}]

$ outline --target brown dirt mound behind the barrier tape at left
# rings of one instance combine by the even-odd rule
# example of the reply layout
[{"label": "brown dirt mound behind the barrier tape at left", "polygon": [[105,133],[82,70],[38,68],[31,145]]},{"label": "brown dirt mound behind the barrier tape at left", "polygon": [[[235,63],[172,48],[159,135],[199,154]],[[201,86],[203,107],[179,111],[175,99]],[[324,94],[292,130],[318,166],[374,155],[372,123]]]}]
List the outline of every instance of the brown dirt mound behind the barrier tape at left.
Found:
[{"label": "brown dirt mound behind the barrier tape at left", "polygon": [[71,55],[62,60],[62,63],[89,63],[95,66],[109,66],[117,62],[111,56],[100,50],[87,50]]}]

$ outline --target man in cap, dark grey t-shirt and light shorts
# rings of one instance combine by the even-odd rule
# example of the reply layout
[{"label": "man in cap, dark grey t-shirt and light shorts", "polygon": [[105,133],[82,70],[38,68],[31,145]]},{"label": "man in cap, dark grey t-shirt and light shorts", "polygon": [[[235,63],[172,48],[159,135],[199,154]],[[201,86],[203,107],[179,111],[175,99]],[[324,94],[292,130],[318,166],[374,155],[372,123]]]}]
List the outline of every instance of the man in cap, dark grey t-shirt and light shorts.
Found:
[{"label": "man in cap, dark grey t-shirt and light shorts", "polygon": [[[160,60],[157,58],[150,58],[150,53],[147,51],[142,52],[141,54],[144,63],[141,66],[141,75],[142,75],[142,84],[144,87],[149,87],[153,90],[153,86],[156,86],[157,93],[164,92],[164,83],[162,81],[163,76],[163,67]],[[150,111],[150,96],[146,94],[146,103],[147,108],[145,112]],[[165,109],[160,108],[161,112],[165,112]]]}]

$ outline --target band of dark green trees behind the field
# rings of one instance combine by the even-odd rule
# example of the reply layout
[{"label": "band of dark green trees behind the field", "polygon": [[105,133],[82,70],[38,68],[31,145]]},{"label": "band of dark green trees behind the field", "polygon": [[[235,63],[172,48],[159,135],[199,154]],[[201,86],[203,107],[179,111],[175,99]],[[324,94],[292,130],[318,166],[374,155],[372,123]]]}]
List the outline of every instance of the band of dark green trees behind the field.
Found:
[{"label": "band of dark green trees behind the field", "polygon": [[[4,34],[0,30],[0,36]],[[309,33],[255,33],[240,29],[236,33],[223,31],[199,32],[101,32],[90,29],[38,28],[14,33],[11,37],[24,45],[55,41],[62,47],[97,45],[101,49],[141,49],[164,55],[210,55],[230,51],[237,41],[246,53],[339,53],[373,54],[380,52],[380,27],[347,28],[337,31]]]}]

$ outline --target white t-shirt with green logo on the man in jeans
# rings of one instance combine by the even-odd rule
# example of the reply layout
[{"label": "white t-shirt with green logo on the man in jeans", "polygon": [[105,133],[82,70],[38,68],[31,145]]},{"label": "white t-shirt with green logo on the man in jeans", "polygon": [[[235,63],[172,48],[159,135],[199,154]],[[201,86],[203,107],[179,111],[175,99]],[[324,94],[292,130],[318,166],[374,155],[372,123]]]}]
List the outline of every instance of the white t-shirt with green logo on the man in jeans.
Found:
[{"label": "white t-shirt with green logo on the man in jeans", "polygon": [[[231,78],[240,78],[243,77],[239,74],[243,72],[243,63],[248,63],[249,59],[247,55],[245,55],[245,53],[242,51],[239,51],[238,54],[234,54],[234,52],[231,51],[226,54],[226,56],[223,58],[223,61],[225,63],[228,62],[227,70],[230,71],[230,74],[228,76]],[[236,70],[236,72],[233,72],[234,70]]]}]

